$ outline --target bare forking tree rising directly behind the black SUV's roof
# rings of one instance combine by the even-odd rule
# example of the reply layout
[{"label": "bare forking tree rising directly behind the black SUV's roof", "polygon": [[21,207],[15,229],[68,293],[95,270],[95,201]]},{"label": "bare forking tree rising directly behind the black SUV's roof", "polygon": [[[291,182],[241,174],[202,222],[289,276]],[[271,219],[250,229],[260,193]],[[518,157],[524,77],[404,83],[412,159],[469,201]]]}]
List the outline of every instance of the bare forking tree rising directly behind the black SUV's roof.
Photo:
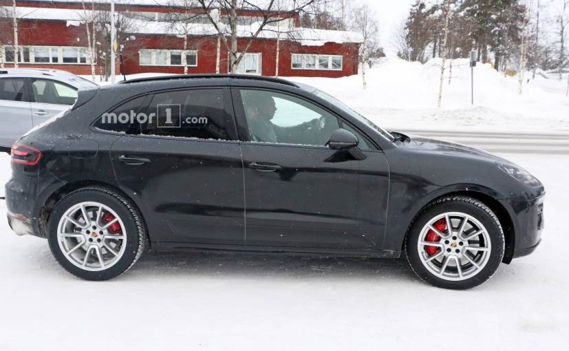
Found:
[{"label": "bare forking tree rising directly behind the black SUV's roof", "polygon": [[[217,34],[229,52],[229,72],[237,72],[237,67],[241,59],[248,52],[253,41],[257,39],[259,34],[266,30],[272,24],[286,21],[300,12],[308,10],[308,7],[321,0],[292,0],[289,1],[276,1],[268,0],[266,6],[257,6],[252,1],[248,0],[197,0],[202,13],[206,15],[210,23],[215,28]],[[216,21],[211,16],[211,11],[217,8],[222,16],[225,17],[227,23],[224,21]],[[248,41],[242,50],[237,49],[237,36],[238,36],[238,13],[256,12],[258,22],[251,25],[251,32],[248,35]]]}]

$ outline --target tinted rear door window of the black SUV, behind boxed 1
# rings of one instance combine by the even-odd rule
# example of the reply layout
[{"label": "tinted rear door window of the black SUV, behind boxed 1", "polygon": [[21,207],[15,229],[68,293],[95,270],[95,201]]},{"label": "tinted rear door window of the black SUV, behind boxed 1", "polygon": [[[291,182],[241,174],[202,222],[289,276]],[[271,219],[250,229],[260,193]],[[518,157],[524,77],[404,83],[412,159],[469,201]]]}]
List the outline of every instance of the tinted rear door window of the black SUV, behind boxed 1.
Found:
[{"label": "tinted rear door window of the black SUV, behind boxed 1", "polygon": [[142,134],[232,140],[233,116],[227,113],[224,89],[189,89],[154,95]]}]

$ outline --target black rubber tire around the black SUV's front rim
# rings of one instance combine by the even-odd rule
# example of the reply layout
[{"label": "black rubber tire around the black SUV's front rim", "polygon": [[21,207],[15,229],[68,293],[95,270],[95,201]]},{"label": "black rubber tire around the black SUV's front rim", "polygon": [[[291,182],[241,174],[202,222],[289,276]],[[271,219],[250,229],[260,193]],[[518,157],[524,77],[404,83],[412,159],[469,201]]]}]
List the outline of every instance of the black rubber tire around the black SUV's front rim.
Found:
[{"label": "black rubber tire around the black SUV's front rim", "polygon": [[[417,250],[422,228],[432,218],[447,212],[461,212],[475,217],[484,225],[490,237],[491,250],[489,260],[480,272],[469,279],[452,281],[438,277],[425,267]],[[469,289],[484,283],[500,266],[502,257],[504,257],[504,231],[502,231],[500,221],[493,211],[479,200],[466,196],[441,198],[425,206],[425,209],[411,223],[405,240],[405,255],[416,275],[433,286],[455,290]]]}]

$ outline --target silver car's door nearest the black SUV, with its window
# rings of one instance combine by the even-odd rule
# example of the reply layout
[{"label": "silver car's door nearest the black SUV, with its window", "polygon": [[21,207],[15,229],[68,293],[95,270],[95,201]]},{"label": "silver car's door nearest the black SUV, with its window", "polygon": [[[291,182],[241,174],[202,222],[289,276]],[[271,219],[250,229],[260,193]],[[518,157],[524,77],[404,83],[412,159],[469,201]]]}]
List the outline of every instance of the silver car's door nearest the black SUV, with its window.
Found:
[{"label": "silver car's door nearest the black SUV, with its window", "polygon": [[71,85],[43,78],[29,78],[32,96],[32,123],[39,125],[77,100],[77,89]]}]

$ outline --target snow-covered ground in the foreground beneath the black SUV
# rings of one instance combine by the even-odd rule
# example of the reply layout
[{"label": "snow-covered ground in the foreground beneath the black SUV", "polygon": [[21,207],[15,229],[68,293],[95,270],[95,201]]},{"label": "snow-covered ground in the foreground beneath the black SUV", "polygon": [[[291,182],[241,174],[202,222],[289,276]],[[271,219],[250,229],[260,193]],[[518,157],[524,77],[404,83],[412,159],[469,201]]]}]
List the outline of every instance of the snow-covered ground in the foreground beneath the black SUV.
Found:
[{"label": "snow-covered ground in the foreground beneath the black SUV", "polygon": [[[0,220],[0,350],[542,350],[569,340],[566,155],[502,155],[546,185],[537,251],[468,291],[404,260],[146,255],[82,281]],[[0,154],[0,178],[9,177]],[[0,201],[0,219],[6,206]]]}]

